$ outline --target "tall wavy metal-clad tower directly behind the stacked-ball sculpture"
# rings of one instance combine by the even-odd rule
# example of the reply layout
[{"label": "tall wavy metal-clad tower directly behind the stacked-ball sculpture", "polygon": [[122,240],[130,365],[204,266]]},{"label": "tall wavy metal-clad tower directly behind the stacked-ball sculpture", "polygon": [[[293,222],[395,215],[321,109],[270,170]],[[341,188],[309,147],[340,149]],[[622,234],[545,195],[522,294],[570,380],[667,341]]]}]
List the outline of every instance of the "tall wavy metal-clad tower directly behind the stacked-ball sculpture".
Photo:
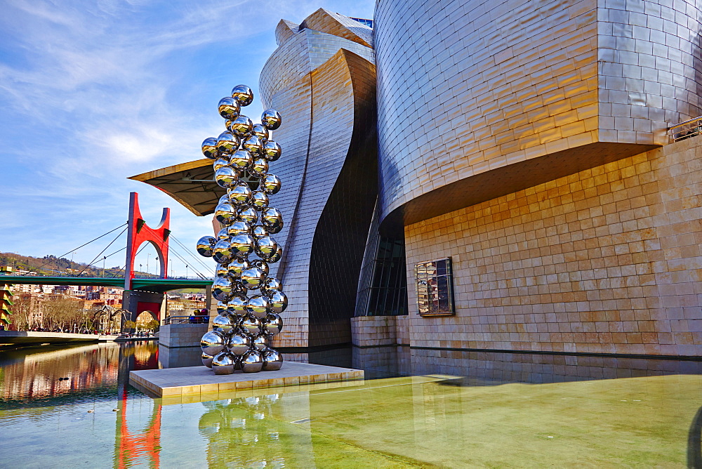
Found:
[{"label": "tall wavy metal-clad tower directly behind the stacked-ball sculpture", "polygon": [[[338,27],[322,13],[317,27],[324,18]],[[347,343],[354,310],[347,298],[355,299],[377,192],[373,51],[284,26],[260,79],[264,105],[284,118],[272,134],[283,148],[272,171],[284,187],[272,202],[286,220],[275,236],[284,256],[271,274],[282,279],[289,307],[276,345]]]}]

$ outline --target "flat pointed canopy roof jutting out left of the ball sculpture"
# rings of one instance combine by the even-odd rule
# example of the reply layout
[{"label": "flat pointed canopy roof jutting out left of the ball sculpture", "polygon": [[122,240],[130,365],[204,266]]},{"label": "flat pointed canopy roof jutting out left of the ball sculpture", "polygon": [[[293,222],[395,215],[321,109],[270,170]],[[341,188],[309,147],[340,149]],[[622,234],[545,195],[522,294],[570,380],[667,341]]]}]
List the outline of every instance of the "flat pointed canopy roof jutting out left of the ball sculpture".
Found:
[{"label": "flat pointed canopy roof jutting out left of the ball sculpture", "polygon": [[225,190],[214,182],[212,160],[198,159],[187,163],[154,169],[129,179],[150,184],[166,192],[197,216],[215,211]]}]

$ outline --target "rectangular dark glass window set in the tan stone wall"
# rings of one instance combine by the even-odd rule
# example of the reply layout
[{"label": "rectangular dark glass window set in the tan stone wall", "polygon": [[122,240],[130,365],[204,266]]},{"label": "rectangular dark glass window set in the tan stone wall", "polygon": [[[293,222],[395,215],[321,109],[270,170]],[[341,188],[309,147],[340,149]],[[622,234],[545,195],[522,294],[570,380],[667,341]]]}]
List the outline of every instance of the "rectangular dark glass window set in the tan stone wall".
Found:
[{"label": "rectangular dark glass window set in the tan stone wall", "polygon": [[414,267],[419,314],[453,315],[453,272],[451,258],[418,263]]}]

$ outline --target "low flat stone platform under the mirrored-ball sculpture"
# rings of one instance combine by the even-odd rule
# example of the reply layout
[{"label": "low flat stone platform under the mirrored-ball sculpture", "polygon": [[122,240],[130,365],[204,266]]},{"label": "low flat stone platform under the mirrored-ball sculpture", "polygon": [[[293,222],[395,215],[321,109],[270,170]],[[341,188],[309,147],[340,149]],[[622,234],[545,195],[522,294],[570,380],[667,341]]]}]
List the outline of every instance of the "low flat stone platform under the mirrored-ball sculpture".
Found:
[{"label": "low flat stone platform under the mirrored-ball sculpture", "polygon": [[165,368],[129,372],[129,384],[156,397],[210,394],[258,388],[281,388],[300,384],[362,381],[362,370],[310,363],[284,362],[277,371],[237,372],[216,375],[206,366]]}]

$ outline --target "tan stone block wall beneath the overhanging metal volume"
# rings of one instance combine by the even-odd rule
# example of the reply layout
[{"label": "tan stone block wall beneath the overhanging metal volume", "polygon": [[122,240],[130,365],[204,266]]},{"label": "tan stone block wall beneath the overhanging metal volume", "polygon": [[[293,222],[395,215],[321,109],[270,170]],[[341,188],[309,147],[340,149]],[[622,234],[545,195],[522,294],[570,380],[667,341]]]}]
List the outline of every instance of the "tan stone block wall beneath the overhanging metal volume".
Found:
[{"label": "tan stone block wall beneath the overhanging metal volume", "polygon": [[[702,137],[407,225],[405,241],[412,346],[702,356]],[[414,265],[446,256],[456,315],[420,317]]]}]

